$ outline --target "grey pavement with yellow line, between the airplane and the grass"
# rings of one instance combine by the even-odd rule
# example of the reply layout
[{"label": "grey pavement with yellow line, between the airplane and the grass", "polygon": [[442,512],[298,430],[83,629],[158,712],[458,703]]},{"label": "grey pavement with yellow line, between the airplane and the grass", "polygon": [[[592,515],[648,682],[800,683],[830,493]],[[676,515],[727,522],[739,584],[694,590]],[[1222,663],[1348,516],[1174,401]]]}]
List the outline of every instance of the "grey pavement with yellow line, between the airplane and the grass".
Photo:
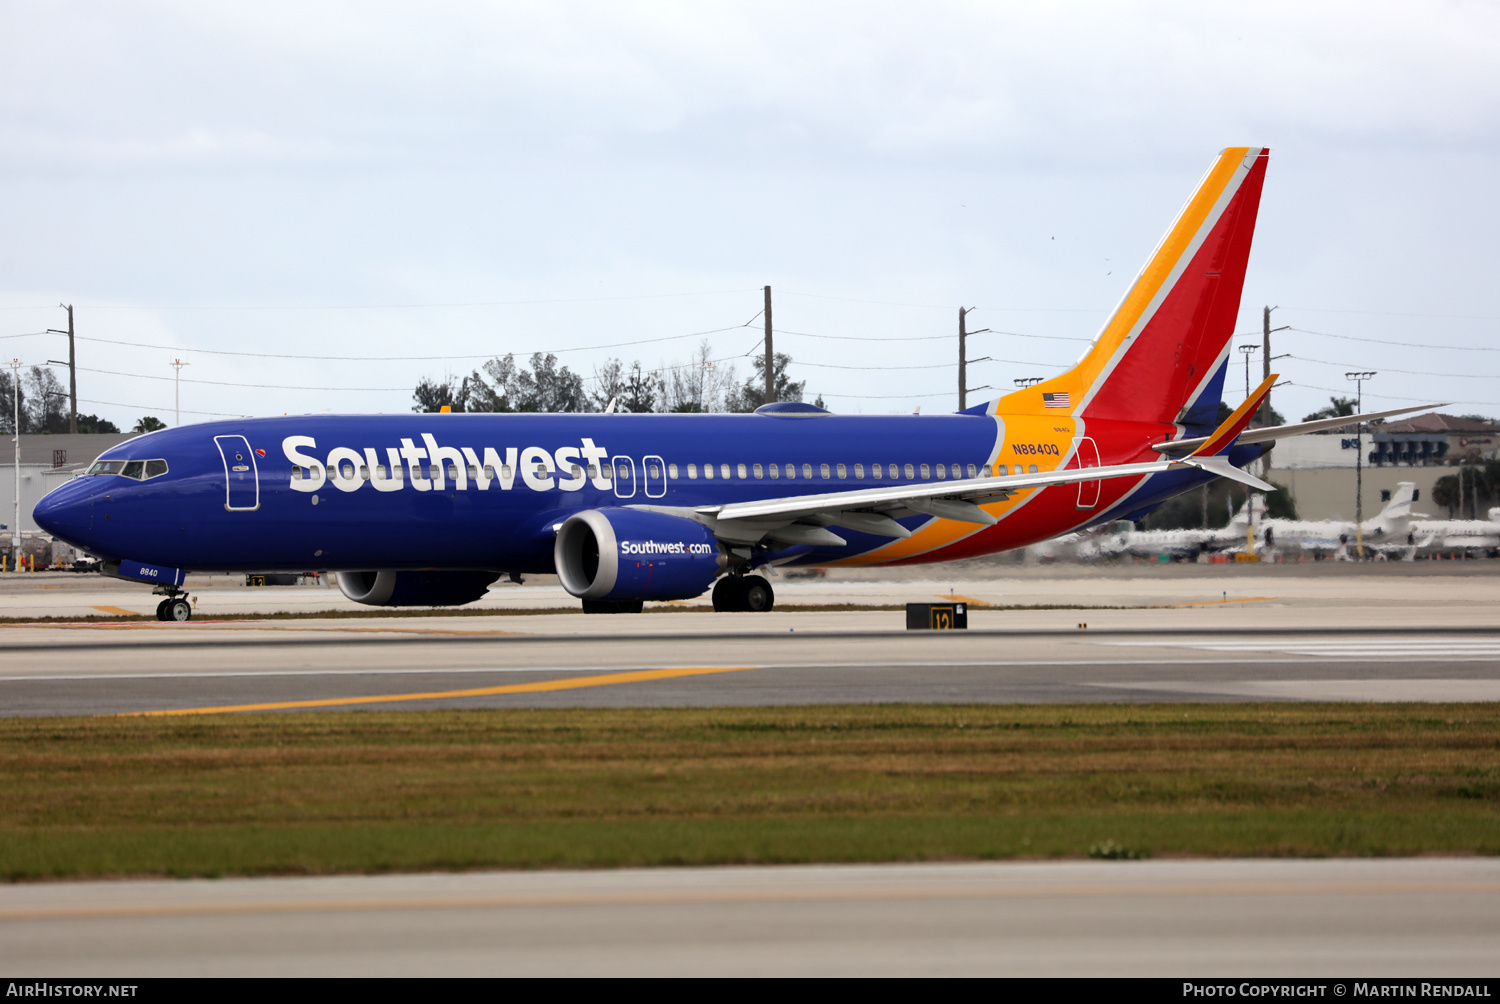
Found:
[{"label": "grey pavement with yellow line, between the airplane and the grass", "polygon": [[[327,587],[274,591],[219,576],[213,602],[186,624],[0,626],[0,713],[1500,699],[1500,576],[1476,573],[1490,563],[1452,564],[1446,575],[1346,566],[1173,578],[1126,567],[1090,579],[834,578],[782,588],[802,606],[952,596],[970,605],[964,632],[908,632],[900,611],[795,603],[770,614],[525,612],[561,605],[548,584],[492,593],[478,617],[264,620],[230,614],[278,596],[309,609],[352,605]],[[98,576],[0,585],[0,615],[46,602],[66,611],[150,600]],[[1092,608],[1000,602],[1023,591]],[[92,603],[100,596],[116,602]]]}]

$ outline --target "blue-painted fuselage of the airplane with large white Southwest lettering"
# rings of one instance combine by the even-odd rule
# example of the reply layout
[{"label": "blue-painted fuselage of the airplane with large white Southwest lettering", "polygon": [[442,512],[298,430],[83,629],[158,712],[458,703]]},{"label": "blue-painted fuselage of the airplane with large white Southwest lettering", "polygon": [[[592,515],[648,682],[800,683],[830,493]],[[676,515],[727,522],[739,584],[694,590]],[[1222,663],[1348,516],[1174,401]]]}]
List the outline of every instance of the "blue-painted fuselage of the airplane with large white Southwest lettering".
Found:
[{"label": "blue-painted fuselage of the airplane with large white Southwest lettering", "polygon": [[[548,572],[556,525],[579,510],[694,509],[974,477],[988,473],[1004,435],[1002,420],[978,414],[244,419],[129,440],[100,458],[112,462],[105,470],[140,476],[165,461],[166,473],[78,477],[38,504],[36,521],[106,561],[176,569]],[[1202,480],[1182,471],[1161,479],[1160,491],[1143,485],[1131,506]],[[1062,513],[1050,533],[1120,515]],[[844,546],[762,557],[828,563],[890,543],[842,536]],[[1028,542],[996,537],[986,549]]]}]

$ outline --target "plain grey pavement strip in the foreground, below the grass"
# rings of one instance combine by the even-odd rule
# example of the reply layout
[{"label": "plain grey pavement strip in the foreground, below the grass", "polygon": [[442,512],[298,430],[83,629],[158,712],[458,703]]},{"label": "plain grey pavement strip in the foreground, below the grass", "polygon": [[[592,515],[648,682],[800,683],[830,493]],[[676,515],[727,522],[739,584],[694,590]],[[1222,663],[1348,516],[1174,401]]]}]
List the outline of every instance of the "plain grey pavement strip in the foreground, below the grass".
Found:
[{"label": "plain grey pavement strip in the foreground, below the grass", "polygon": [[1500,863],[1068,861],[6,885],[0,968],[114,978],[1456,980],[1500,968]]}]

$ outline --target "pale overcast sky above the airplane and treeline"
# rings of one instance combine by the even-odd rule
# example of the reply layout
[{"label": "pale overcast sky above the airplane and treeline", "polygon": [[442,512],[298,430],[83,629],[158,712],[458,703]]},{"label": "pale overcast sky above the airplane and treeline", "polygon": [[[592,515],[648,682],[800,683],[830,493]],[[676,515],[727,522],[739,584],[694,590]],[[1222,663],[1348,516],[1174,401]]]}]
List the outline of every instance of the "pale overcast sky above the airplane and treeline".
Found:
[{"label": "pale overcast sky above the airplane and treeline", "polygon": [[1002,360],[970,386],[1060,372],[1240,144],[1272,161],[1238,330],[1298,329],[1278,408],[1372,369],[1366,408],[1500,414],[1496,5],[0,12],[0,354],[64,359],[27,333],[74,303],[110,339],[80,410],[122,428],[174,420],[176,357],[183,422],[702,338],[744,380],[766,284],[808,398],[952,410],[960,305]]}]

